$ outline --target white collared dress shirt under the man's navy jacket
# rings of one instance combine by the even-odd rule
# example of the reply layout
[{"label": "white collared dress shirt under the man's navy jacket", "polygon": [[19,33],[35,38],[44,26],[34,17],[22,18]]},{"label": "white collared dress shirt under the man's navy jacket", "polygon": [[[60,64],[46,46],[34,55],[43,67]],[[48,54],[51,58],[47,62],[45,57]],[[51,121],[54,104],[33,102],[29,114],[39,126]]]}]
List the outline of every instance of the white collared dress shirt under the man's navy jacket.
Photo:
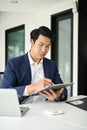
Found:
[{"label": "white collared dress shirt under the man's navy jacket", "polygon": [[[34,84],[34,83],[37,83],[41,78],[44,77],[43,59],[38,64],[37,62],[34,62],[32,60],[29,53],[28,53],[28,58],[29,58],[30,67],[31,67],[31,84]],[[26,90],[27,90],[27,86],[24,91],[24,96],[29,95],[29,94],[27,94]],[[41,95],[37,95],[37,96],[30,97],[27,102],[40,102],[40,101],[45,101],[45,100],[46,100],[45,97],[43,97]]]}]

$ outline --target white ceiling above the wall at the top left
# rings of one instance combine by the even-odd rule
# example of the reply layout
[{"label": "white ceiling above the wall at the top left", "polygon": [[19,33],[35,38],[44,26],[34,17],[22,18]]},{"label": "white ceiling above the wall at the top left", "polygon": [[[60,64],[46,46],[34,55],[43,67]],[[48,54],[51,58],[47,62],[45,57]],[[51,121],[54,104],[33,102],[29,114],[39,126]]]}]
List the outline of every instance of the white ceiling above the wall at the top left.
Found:
[{"label": "white ceiling above the wall at the top left", "polygon": [[65,0],[0,0],[0,12],[35,13]]}]

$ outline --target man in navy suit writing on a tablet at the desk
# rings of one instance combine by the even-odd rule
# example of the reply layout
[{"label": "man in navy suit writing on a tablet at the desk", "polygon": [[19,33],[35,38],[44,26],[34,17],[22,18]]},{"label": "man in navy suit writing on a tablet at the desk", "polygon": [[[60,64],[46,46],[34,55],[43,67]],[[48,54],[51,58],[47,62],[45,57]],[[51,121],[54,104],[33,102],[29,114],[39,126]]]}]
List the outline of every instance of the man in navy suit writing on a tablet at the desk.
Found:
[{"label": "man in navy suit writing on a tablet at the desk", "polygon": [[[20,103],[43,87],[63,82],[55,62],[45,58],[54,40],[52,31],[41,26],[34,29],[30,36],[30,51],[8,61],[2,81],[3,88],[15,88],[17,90]],[[67,90],[61,88],[57,91],[44,91],[31,99],[31,102],[64,101],[67,99]]]}]

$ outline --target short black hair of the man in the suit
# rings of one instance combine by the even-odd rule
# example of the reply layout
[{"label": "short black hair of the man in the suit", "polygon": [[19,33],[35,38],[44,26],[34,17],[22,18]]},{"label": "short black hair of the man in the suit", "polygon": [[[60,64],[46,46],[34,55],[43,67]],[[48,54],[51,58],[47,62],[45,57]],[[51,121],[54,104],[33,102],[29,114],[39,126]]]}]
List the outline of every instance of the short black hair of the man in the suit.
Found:
[{"label": "short black hair of the man in the suit", "polygon": [[30,33],[30,38],[33,39],[33,41],[35,42],[38,39],[39,35],[43,35],[43,36],[50,38],[51,43],[53,43],[53,41],[54,41],[53,32],[45,26],[41,26],[38,29],[32,30]]}]

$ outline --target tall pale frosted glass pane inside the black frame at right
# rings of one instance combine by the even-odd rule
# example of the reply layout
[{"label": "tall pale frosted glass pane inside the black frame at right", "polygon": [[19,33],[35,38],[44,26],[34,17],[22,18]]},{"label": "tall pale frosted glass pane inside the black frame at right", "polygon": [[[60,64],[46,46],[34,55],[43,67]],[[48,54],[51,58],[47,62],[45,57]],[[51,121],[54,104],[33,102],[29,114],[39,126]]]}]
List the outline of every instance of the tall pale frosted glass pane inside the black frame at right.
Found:
[{"label": "tall pale frosted glass pane inside the black frame at right", "polygon": [[[71,81],[71,19],[58,22],[58,67],[64,82]],[[70,89],[68,87],[68,92]]]}]

